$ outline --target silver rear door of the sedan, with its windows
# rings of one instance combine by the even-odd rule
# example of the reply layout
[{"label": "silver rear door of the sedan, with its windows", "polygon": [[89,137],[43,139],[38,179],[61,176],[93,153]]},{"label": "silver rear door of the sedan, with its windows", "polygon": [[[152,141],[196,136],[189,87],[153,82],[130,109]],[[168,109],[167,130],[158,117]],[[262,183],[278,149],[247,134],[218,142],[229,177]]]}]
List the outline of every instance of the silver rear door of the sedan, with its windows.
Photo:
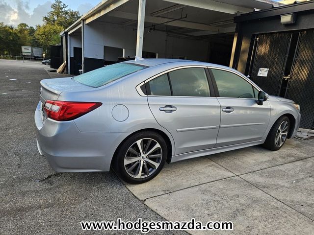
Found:
[{"label": "silver rear door of the sedan, with its windows", "polygon": [[174,138],[176,155],[216,144],[220,105],[210,96],[213,88],[208,76],[206,67],[184,67],[145,82],[149,107]]}]

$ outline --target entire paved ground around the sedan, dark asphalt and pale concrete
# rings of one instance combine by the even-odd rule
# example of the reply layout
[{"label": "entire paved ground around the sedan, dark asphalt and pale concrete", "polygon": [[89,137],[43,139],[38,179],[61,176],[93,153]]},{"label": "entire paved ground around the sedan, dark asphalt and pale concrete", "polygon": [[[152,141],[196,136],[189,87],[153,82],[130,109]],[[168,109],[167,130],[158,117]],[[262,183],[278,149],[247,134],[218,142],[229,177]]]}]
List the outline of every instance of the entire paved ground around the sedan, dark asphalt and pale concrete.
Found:
[{"label": "entire paved ground around the sedan, dark asphalt and pale concrete", "polygon": [[53,172],[38,154],[33,123],[39,81],[64,76],[48,68],[0,60],[1,235],[86,234],[79,221],[119,217],[233,221],[234,231],[220,234],[313,235],[314,140],[289,140],[277,152],[256,146],[167,164],[151,182],[126,187],[112,172]]}]

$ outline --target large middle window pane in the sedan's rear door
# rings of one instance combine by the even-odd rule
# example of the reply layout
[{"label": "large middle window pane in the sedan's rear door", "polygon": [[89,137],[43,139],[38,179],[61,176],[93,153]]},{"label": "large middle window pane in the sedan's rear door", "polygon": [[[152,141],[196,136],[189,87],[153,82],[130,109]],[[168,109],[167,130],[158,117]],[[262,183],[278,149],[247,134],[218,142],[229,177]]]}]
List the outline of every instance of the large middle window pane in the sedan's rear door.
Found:
[{"label": "large middle window pane in the sedan's rear door", "polygon": [[209,96],[209,84],[204,68],[186,68],[169,72],[174,96]]}]

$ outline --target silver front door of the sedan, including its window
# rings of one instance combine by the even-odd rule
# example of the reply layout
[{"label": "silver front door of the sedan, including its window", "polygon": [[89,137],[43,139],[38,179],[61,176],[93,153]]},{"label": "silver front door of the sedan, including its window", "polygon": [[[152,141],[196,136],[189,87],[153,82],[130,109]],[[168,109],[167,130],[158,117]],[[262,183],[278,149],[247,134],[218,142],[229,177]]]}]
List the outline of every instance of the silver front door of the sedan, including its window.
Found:
[{"label": "silver front door of the sedan, including its window", "polygon": [[270,104],[257,104],[258,90],[234,71],[211,68],[221,120],[215,147],[262,139],[270,118]]}]

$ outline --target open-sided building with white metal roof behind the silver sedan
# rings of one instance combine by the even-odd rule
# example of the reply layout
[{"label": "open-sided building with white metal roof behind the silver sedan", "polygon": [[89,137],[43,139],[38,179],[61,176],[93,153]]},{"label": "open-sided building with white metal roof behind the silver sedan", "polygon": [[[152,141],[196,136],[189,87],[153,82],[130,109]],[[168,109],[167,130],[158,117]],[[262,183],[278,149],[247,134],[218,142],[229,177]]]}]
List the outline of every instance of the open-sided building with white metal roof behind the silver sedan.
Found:
[{"label": "open-sided building with white metal roof behind the silver sedan", "polygon": [[81,48],[84,72],[113,63],[116,57],[134,55],[229,65],[234,16],[269,9],[273,4],[279,3],[269,0],[103,0],[64,32],[68,72],[77,71],[71,68],[76,66],[74,47]]}]

